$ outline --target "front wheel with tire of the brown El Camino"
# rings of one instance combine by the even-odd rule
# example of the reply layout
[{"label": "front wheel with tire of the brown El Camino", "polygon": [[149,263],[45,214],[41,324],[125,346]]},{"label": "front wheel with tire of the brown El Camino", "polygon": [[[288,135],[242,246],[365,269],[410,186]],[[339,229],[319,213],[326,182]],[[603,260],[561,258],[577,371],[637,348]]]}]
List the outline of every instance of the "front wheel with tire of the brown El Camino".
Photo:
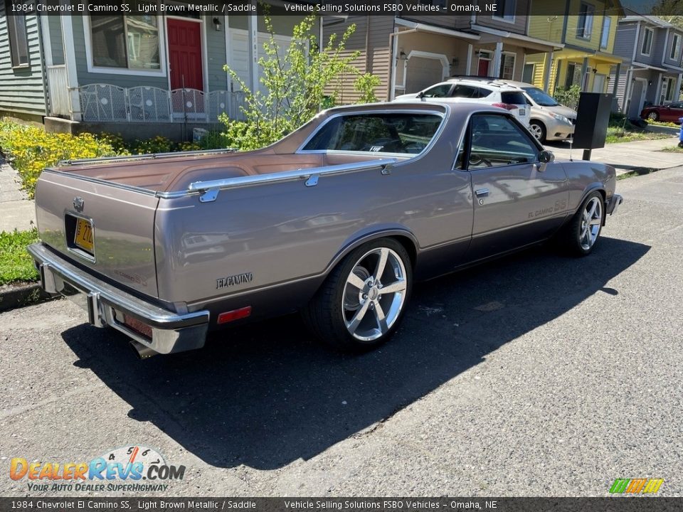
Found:
[{"label": "front wheel with tire of the brown El Camino", "polygon": [[600,192],[592,192],[581,203],[563,233],[563,241],[571,254],[586,256],[593,251],[603,227],[605,202]]}]

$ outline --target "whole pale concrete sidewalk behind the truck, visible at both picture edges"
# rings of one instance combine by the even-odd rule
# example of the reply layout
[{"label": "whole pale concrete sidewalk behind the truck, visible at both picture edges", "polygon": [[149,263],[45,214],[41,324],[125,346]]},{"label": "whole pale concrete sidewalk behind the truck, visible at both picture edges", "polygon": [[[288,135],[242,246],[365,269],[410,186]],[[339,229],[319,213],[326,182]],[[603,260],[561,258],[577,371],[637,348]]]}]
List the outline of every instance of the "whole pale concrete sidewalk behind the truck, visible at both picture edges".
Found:
[{"label": "whole pale concrete sidewalk behind the truck, visible at both picture edges", "polygon": [[[632,169],[669,169],[683,164],[680,153],[666,153],[662,148],[676,146],[678,137],[608,144],[593,149],[591,160],[610,164],[623,174]],[[559,160],[581,160],[583,149],[570,149],[566,142],[546,144]],[[19,177],[9,164],[0,159],[0,231],[30,229],[36,223],[36,208],[19,188]]]}]

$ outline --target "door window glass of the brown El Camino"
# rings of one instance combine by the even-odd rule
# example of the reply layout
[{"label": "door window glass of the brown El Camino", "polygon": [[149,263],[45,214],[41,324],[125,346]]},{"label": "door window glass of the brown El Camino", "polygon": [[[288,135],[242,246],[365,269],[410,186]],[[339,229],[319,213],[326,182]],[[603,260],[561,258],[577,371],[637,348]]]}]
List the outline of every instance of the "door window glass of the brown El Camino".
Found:
[{"label": "door window glass of the brown El Camino", "polygon": [[535,162],[539,149],[529,134],[501,114],[475,114],[470,121],[470,161],[468,169]]}]

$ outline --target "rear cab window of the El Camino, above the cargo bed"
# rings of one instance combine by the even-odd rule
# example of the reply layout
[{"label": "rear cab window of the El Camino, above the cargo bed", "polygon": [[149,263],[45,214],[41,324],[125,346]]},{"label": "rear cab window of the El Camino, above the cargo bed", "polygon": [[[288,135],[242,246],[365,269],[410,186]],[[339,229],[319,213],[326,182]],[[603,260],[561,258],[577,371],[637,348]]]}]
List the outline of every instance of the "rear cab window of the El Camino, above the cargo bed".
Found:
[{"label": "rear cab window of the El Camino, above the cargo bed", "polygon": [[418,154],[436,134],[436,114],[350,114],[330,119],[303,151],[364,151]]}]

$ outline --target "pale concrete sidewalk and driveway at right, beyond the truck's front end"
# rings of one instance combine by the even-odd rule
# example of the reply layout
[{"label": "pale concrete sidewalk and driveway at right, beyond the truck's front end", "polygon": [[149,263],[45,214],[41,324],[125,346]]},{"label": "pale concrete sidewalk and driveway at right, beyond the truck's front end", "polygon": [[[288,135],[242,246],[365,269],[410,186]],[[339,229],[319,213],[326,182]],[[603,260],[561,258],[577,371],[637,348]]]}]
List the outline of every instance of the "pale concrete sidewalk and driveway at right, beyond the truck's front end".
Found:
[{"label": "pale concrete sidewalk and driveway at right, beyond the truck's front end", "polygon": [[[678,137],[667,139],[620,142],[607,144],[600,149],[593,149],[591,161],[609,164],[617,169],[617,174],[623,174],[632,169],[669,169],[669,167],[683,164],[683,154],[667,153],[665,147],[677,146]],[[583,149],[570,149],[568,142],[552,142],[546,148],[553,151],[558,160],[581,160]]]}]

